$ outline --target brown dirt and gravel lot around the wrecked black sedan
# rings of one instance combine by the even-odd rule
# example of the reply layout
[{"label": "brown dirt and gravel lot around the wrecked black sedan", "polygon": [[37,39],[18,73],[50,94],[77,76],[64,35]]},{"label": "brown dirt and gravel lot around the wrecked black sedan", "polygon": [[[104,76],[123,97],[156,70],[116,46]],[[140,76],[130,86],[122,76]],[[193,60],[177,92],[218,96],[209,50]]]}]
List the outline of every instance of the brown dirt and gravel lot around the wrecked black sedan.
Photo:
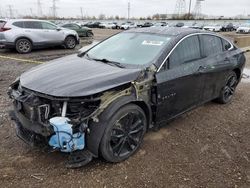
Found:
[{"label": "brown dirt and gravel lot around the wrecked black sedan", "polygon": [[[95,30],[96,39],[113,32]],[[73,52],[1,50],[0,55],[44,61]],[[247,61],[250,68],[250,54]],[[123,163],[96,159],[69,170],[66,156],[20,141],[8,117],[8,85],[33,66],[0,58],[0,187],[250,187],[250,82],[243,80],[231,104],[208,103],[149,132],[141,150]]]}]

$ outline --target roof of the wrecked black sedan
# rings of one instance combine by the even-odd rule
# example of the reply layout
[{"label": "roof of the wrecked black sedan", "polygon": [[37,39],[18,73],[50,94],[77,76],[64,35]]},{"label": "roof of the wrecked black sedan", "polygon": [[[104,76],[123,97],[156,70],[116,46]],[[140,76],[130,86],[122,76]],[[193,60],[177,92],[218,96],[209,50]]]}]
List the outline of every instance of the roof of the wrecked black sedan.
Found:
[{"label": "roof of the wrecked black sedan", "polygon": [[158,34],[167,36],[186,36],[195,33],[208,33],[208,34],[211,33],[203,30],[182,28],[182,27],[149,27],[149,28],[131,29],[125,32],[148,33],[148,34]]}]

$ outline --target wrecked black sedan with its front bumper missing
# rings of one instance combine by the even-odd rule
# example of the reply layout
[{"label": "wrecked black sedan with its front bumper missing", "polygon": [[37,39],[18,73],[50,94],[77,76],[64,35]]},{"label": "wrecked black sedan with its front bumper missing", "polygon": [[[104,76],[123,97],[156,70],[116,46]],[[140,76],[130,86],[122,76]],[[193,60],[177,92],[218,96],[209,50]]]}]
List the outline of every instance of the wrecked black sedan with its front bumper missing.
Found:
[{"label": "wrecked black sedan with its front bumper missing", "polygon": [[121,162],[161,122],[229,103],[244,65],[243,52],[214,33],[129,30],[22,74],[8,92],[12,118],[26,142],[75,155],[70,167],[98,156]]}]

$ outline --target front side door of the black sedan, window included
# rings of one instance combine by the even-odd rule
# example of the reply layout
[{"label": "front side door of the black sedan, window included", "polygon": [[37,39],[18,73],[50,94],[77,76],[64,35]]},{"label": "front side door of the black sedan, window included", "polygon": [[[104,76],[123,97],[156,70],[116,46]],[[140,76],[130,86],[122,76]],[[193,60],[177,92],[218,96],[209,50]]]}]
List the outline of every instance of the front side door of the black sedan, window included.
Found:
[{"label": "front side door of the black sedan, window included", "polygon": [[184,39],[156,74],[157,120],[168,120],[200,103],[204,80],[199,37]]}]

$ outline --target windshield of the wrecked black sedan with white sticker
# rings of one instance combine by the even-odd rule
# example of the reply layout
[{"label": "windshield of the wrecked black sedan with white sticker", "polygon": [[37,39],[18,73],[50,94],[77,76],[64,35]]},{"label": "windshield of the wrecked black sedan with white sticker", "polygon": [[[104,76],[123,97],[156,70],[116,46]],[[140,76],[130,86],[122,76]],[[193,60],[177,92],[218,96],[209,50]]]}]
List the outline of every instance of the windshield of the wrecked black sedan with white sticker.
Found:
[{"label": "windshield of the wrecked black sedan with white sticker", "polygon": [[145,65],[157,57],[170,39],[153,34],[120,33],[92,48],[87,54],[91,59]]}]

